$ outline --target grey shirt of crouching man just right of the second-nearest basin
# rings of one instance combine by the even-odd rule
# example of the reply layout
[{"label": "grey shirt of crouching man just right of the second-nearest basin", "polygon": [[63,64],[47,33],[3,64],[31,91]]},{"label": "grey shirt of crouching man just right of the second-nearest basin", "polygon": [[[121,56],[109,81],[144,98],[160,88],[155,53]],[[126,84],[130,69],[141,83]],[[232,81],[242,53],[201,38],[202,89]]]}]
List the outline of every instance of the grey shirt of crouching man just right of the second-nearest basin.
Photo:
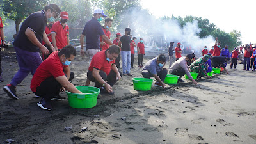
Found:
[{"label": "grey shirt of crouching man just right of the second-nearest basin", "polygon": [[157,74],[157,72],[160,72],[163,67],[160,67],[157,65],[157,57],[153,58],[152,60],[149,60],[146,65],[143,67],[143,70],[148,70],[151,74]]}]

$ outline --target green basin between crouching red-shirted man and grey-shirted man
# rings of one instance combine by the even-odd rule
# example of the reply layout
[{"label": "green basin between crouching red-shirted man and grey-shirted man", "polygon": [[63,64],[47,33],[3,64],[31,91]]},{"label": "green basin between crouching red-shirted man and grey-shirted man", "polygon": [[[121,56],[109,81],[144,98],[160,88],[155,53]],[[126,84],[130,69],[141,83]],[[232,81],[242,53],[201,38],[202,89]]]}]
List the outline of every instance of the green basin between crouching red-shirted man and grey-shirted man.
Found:
[{"label": "green basin between crouching red-shirted man and grey-shirted man", "polygon": [[132,78],[134,90],[147,91],[151,90],[153,79],[134,77]]}]

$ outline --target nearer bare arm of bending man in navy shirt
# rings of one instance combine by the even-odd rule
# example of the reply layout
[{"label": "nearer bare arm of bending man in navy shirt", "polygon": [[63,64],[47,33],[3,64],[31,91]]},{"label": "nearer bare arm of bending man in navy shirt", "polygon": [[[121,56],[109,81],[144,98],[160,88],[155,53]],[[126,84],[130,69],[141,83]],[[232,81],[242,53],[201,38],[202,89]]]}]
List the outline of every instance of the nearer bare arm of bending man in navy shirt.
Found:
[{"label": "nearer bare arm of bending man in navy shirt", "polygon": [[49,50],[42,45],[42,43],[39,42],[39,40],[36,38],[35,32],[31,29],[27,28],[25,31],[25,35],[28,37],[29,41],[39,47],[39,49],[43,52],[43,54],[49,54]]}]

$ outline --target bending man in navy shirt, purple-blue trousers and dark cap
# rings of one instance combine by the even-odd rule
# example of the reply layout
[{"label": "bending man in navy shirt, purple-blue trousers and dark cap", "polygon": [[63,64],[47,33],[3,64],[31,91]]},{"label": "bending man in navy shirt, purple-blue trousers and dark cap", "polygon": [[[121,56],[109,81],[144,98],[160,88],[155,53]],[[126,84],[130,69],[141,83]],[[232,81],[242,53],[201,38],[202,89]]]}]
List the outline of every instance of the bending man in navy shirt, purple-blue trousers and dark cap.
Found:
[{"label": "bending man in navy shirt, purple-blue trousers and dark cap", "polygon": [[11,83],[3,88],[9,97],[19,99],[15,90],[16,86],[28,76],[29,72],[34,75],[36,68],[42,63],[38,48],[42,51],[42,54],[49,54],[49,50],[42,45],[42,40],[52,51],[55,51],[47,38],[45,27],[47,20],[56,19],[60,12],[61,10],[56,4],[49,4],[41,12],[29,15],[22,23],[20,31],[13,42],[20,69]]}]

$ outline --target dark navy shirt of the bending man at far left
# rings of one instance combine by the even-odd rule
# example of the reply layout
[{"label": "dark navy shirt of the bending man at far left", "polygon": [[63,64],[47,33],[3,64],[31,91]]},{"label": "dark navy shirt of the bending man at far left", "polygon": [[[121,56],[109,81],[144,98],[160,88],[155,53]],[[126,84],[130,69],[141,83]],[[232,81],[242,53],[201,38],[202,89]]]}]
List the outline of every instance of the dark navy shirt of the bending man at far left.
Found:
[{"label": "dark navy shirt of the bending man at far left", "polygon": [[25,35],[25,31],[27,28],[31,29],[31,31],[35,33],[38,41],[42,43],[46,26],[47,26],[47,18],[45,17],[45,13],[43,10],[41,12],[39,11],[39,12],[32,13],[22,23],[20,27],[20,31],[16,36],[13,42],[13,45],[15,47],[19,47],[20,49],[23,49],[24,51],[37,52],[38,47],[28,39],[28,37]]}]

